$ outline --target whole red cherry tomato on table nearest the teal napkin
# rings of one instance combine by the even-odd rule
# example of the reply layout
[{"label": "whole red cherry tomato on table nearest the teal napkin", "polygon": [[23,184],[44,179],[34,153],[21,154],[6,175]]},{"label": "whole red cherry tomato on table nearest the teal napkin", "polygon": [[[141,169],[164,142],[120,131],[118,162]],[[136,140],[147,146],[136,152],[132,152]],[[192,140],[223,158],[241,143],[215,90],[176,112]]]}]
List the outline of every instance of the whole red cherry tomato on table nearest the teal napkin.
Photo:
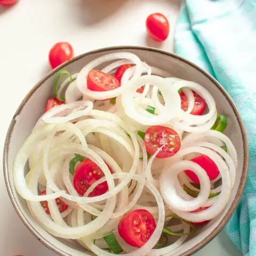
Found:
[{"label": "whole red cherry tomato on table nearest the teal napkin", "polygon": [[150,14],[146,21],[147,31],[155,41],[164,41],[169,35],[170,25],[162,13]]}]

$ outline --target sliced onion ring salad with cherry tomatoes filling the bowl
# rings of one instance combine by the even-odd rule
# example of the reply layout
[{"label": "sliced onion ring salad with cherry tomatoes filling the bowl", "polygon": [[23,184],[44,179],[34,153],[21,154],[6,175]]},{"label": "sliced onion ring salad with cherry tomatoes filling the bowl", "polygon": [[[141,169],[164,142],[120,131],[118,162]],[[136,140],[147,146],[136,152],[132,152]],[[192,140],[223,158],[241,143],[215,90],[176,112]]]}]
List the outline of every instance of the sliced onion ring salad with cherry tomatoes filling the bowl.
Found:
[{"label": "sliced onion ring salad with cherry tomatoes filling the bowl", "polygon": [[223,211],[237,154],[202,85],[117,52],[61,70],[53,91],[13,164],[50,234],[96,255],[161,256]]}]

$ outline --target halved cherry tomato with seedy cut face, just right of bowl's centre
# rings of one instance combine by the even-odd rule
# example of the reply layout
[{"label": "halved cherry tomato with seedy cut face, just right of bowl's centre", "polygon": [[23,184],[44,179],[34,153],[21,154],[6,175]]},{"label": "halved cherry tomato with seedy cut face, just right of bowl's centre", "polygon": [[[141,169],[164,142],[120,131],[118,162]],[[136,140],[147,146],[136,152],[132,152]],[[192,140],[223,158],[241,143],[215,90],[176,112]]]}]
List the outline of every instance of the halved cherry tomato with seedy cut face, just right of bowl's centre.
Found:
[{"label": "halved cherry tomato with seedy cut face, just right of bowl's centre", "polygon": [[166,158],[175,155],[180,149],[180,137],[169,127],[150,126],[144,138],[145,146],[150,155],[154,155],[158,148],[165,145],[156,155],[157,158]]}]

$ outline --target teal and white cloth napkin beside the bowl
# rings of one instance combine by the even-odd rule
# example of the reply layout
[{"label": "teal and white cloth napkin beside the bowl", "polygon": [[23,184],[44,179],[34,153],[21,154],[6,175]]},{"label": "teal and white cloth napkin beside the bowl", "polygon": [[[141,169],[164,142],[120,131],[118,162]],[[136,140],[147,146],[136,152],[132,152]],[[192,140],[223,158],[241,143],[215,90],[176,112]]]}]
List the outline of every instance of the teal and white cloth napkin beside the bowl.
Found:
[{"label": "teal and white cloth napkin beside the bowl", "polygon": [[256,0],[186,0],[175,52],[225,87],[241,114],[249,140],[246,188],[226,232],[246,256],[256,255]]}]

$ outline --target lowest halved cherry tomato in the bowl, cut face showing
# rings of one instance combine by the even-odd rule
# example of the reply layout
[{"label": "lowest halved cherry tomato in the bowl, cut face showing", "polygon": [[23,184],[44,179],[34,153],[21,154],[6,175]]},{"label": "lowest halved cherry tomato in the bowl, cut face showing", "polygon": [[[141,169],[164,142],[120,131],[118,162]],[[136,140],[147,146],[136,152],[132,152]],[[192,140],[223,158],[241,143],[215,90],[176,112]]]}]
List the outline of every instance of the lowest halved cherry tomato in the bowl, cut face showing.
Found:
[{"label": "lowest halved cherry tomato in the bowl, cut face showing", "polygon": [[118,233],[127,244],[141,247],[147,243],[156,228],[153,215],[147,210],[134,210],[121,219]]}]

